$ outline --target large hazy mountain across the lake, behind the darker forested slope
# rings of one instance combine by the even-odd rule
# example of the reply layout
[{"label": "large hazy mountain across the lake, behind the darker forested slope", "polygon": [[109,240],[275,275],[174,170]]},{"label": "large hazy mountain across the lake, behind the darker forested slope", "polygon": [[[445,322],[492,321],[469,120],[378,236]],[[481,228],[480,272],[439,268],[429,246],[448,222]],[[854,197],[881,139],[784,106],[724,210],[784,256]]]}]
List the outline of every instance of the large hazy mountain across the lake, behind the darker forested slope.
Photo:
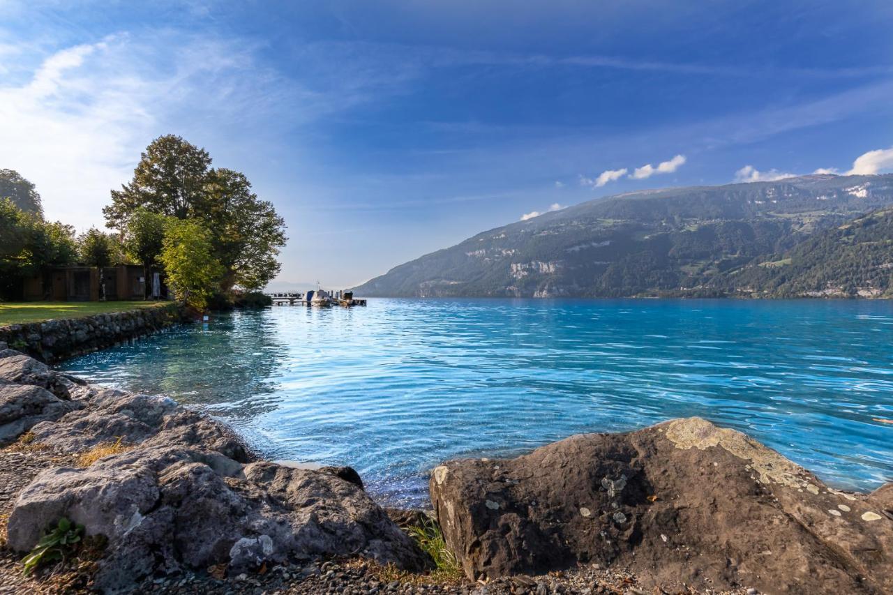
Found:
[{"label": "large hazy mountain across the lake, behind the darker forested slope", "polygon": [[[355,292],[368,297],[775,295],[800,285],[766,275],[787,274],[783,266],[774,271],[766,263],[784,261],[789,253],[793,258],[792,250],[807,239],[843,241],[834,230],[889,206],[893,175],[822,174],[643,190],[485,231],[396,266]],[[764,293],[769,287],[772,291]]]}]

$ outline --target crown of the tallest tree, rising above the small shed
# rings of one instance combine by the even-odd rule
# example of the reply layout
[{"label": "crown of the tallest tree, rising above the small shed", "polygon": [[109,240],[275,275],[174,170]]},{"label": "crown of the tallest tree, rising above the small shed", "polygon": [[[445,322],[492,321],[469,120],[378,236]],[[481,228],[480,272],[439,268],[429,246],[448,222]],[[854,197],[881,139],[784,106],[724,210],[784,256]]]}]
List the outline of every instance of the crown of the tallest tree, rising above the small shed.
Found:
[{"label": "crown of the tallest tree, rising above the small shed", "polygon": [[204,148],[173,134],[155,138],[140,155],[133,180],[112,190],[106,225],[122,229],[139,208],[178,219],[195,216],[204,201],[211,157]]}]

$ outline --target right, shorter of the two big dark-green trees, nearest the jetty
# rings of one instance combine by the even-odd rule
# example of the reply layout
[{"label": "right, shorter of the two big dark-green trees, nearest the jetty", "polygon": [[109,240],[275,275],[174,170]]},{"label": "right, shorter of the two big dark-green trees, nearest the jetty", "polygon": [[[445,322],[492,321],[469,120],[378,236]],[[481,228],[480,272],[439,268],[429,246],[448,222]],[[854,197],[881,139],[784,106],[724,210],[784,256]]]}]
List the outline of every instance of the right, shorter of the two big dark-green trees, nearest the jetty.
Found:
[{"label": "right, shorter of the two big dark-green trees, nearest the jetty", "polygon": [[262,289],[280,272],[276,256],[285,246],[285,221],[251,191],[245,174],[224,168],[209,172],[204,209],[214,253],[226,271],[221,289]]}]

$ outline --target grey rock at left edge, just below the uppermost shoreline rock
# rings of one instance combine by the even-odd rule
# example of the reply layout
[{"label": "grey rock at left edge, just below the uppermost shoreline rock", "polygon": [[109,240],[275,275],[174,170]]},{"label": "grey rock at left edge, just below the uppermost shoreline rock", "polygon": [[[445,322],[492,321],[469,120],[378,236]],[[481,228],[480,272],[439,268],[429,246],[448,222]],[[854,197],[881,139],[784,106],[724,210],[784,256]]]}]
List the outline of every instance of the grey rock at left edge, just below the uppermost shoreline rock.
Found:
[{"label": "grey rock at left edge, just below the uppermost shoreline rock", "polygon": [[39,386],[0,384],[0,447],[13,443],[36,424],[57,420],[79,406]]}]

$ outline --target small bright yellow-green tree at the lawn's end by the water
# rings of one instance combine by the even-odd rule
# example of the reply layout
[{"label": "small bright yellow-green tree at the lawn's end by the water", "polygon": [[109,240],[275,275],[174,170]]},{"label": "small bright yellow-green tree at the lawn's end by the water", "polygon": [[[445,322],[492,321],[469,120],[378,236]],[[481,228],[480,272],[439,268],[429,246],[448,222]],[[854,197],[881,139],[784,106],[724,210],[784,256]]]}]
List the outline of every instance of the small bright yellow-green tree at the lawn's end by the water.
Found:
[{"label": "small bright yellow-green tree at the lawn's end by the water", "polygon": [[223,267],[213,255],[211,233],[201,223],[170,219],[159,261],[177,298],[187,306],[204,310],[223,274]]}]

